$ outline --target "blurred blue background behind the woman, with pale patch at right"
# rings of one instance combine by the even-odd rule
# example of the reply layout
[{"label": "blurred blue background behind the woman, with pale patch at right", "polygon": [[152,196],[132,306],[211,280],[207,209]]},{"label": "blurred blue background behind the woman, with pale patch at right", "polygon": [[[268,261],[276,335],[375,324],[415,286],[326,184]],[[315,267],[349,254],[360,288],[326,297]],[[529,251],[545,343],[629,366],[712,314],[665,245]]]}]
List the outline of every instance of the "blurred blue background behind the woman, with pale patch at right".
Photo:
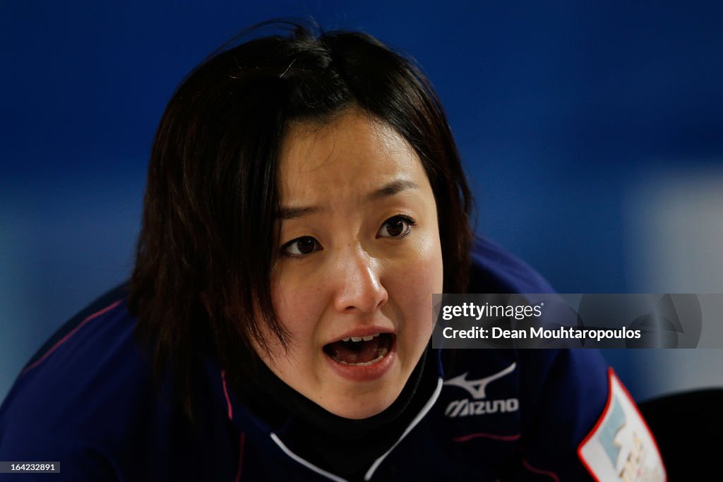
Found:
[{"label": "blurred blue background behind the woman, with pale patch at right", "polygon": [[[272,17],[414,56],[447,109],[479,233],[557,291],[723,293],[723,6],[659,3],[4,2],[0,398],[55,327],[129,275],[174,87]],[[693,221],[678,231],[679,218]],[[605,355],[638,398],[723,384],[681,371],[716,350]]]}]

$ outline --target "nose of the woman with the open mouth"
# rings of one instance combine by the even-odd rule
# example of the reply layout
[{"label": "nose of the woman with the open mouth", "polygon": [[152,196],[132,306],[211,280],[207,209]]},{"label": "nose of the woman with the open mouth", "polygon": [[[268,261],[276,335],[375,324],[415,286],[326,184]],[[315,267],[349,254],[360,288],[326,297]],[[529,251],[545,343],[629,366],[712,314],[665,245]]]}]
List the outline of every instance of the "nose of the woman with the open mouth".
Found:
[{"label": "nose of the woman with the open mouth", "polygon": [[334,299],[337,311],[371,313],[387,302],[389,294],[380,280],[381,267],[364,249],[345,250],[338,263],[340,284]]}]

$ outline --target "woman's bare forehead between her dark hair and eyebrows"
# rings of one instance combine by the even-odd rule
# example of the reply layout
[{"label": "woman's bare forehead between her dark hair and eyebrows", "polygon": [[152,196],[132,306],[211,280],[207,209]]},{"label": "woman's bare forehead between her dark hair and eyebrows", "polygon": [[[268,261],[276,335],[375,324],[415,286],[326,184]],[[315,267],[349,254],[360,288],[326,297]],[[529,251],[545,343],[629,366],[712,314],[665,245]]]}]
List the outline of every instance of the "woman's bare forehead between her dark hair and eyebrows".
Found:
[{"label": "woman's bare forehead between her dark hair and eyebrows", "polygon": [[348,197],[398,179],[428,184],[422,163],[403,137],[356,110],[324,126],[292,126],[281,146],[284,205]]}]

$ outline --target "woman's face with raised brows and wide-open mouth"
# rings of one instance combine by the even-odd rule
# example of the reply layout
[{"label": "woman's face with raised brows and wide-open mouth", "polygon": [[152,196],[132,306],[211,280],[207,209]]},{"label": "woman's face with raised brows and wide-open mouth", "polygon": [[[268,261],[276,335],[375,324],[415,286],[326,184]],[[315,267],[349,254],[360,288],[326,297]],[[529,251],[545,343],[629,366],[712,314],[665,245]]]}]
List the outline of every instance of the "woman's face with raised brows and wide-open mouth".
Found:
[{"label": "woman's face with raised brows and wide-open mouth", "polygon": [[398,397],[432,334],[442,292],[432,188],[403,138],[356,110],[292,128],[279,167],[271,290],[291,345],[262,359],[331,413],[367,418]]}]

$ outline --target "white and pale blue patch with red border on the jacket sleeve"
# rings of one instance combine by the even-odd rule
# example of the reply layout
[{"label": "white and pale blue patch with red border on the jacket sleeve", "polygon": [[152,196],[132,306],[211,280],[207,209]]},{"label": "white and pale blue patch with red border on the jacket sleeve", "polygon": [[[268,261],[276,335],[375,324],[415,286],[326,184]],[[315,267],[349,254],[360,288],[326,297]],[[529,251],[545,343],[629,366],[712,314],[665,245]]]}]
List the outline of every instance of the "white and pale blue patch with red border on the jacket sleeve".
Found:
[{"label": "white and pale blue patch with red border on the jacket sleeve", "polygon": [[663,482],[665,468],[650,429],[628,390],[608,369],[607,404],[578,447],[583,465],[598,482]]}]

